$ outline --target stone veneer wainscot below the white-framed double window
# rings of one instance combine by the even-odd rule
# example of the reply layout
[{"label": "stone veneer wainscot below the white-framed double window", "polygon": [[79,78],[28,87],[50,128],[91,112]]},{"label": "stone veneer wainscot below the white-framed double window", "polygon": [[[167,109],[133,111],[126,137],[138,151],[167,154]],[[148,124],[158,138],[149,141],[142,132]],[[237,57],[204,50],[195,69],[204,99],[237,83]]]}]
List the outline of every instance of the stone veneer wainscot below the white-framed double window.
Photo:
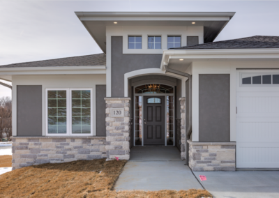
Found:
[{"label": "stone veneer wainscot below the white-framed double window", "polygon": [[105,137],[11,137],[13,169],[107,158]]}]

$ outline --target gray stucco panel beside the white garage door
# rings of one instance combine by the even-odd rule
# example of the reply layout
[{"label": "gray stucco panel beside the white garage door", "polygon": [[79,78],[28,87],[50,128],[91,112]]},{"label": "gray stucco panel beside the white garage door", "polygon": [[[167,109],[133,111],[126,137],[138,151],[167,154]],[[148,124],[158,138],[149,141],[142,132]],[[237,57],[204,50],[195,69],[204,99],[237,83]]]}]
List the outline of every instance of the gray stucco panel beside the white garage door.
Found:
[{"label": "gray stucco panel beside the white garage door", "polygon": [[199,142],[229,142],[229,74],[199,75]]}]

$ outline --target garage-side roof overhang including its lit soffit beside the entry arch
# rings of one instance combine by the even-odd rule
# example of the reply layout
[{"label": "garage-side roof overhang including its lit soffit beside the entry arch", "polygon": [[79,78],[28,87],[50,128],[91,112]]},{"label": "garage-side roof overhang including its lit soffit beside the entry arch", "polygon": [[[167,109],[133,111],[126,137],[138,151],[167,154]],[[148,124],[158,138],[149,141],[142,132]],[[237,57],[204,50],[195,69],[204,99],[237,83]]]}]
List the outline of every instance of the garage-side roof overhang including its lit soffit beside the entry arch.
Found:
[{"label": "garage-side roof overhang including its lit soffit beside the entry arch", "polygon": [[279,61],[279,49],[164,50],[160,69],[185,72],[194,61]]}]

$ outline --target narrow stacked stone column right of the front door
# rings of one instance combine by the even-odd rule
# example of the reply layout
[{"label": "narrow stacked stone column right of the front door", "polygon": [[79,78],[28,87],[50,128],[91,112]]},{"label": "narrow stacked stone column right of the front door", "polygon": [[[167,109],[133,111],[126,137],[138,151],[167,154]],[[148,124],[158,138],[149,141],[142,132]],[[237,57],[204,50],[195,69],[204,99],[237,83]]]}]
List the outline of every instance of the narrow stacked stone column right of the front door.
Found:
[{"label": "narrow stacked stone column right of the front door", "polygon": [[181,113],[181,160],[186,160],[186,107],[185,97],[179,98]]}]

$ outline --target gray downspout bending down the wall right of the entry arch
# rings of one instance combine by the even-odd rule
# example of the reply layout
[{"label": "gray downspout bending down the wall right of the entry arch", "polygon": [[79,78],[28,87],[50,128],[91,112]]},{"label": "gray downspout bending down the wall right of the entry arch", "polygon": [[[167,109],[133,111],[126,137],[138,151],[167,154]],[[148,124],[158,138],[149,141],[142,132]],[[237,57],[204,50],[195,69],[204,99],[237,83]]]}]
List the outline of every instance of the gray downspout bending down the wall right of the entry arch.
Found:
[{"label": "gray downspout bending down the wall right of the entry arch", "polygon": [[[179,70],[174,70],[169,68],[167,65],[165,65],[165,70],[169,73],[174,73],[176,75],[182,75],[185,77],[188,77],[189,79],[189,126],[188,126],[188,130],[186,132],[186,143],[185,143],[185,149],[188,149],[187,146],[187,140],[190,139],[190,136],[192,134],[192,75],[188,74],[188,73],[183,73]],[[187,153],[186,153],[187,155]],[[188,162],[186,162],[187,164]]]}]

